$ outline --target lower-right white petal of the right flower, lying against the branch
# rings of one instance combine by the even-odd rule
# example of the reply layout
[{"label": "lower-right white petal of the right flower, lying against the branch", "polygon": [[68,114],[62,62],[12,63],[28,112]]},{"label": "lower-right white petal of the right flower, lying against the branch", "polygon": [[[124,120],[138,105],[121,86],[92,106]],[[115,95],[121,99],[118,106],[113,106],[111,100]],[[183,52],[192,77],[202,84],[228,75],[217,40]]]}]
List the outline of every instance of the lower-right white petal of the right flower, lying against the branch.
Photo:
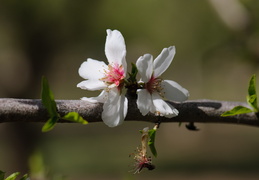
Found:
[{"label": "lower-right white petal of the right flower, lying against the branch", "polygon": [[165,116],[168,118],[175,117],[179,114],[178,110],[175,109],[172,105],[165,102],[159,94],[153,93],[153,109],[151,110],[152,113],[160,116]]}]

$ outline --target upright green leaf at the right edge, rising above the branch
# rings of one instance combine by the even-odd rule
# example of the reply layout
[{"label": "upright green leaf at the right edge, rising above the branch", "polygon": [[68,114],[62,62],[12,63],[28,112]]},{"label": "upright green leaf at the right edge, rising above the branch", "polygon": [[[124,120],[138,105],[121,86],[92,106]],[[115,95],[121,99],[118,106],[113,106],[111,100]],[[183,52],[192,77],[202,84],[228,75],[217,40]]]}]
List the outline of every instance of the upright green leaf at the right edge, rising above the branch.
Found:
[{"label": "upright green leaf at the right edge, rising above the branch", "polygon": [[247,103],[255,110],[255,112],[258,111],[255,74],[251,77],[249,82]]}]

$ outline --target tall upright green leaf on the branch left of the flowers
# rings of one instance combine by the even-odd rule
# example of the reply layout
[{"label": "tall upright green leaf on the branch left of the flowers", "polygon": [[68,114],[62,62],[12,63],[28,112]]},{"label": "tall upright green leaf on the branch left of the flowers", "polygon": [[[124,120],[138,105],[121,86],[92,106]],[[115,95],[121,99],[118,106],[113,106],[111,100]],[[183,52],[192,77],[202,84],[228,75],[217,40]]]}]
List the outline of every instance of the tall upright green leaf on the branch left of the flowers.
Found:
[{"label": "tall upright green leaf on the branch left of the flowers", "polygon": [[54,101],[54,95],[49,88],[48,81],[45,77],[42,77],[42,90],[41,90],[41,100],[44,107],[47,109],[49,116],[59,116],[57,112],[57,105]]}]

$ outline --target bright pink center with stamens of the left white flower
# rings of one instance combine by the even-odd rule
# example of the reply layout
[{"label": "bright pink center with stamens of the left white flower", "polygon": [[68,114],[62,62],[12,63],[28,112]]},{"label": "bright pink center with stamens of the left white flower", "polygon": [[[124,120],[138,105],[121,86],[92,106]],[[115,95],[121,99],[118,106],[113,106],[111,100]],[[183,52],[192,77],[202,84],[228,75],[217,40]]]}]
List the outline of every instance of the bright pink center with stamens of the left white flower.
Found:
[{"label": "bright pink center with stamens of the left white flower", "polygon": [[105,71],[105,77],[101,80],[107,85],[115,85],[118,87],[123,83],[124,78],[124,68],[122,65],[109,64],[108,70]]}]

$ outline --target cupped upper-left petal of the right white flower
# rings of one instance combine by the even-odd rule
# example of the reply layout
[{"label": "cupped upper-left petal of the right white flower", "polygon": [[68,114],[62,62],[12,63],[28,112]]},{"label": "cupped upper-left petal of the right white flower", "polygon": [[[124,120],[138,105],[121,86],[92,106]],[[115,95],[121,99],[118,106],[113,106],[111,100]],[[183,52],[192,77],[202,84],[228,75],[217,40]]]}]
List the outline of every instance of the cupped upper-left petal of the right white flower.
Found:
[{"label": "cupped upper-left petal of the right white flower", "polygon": [[141,81],[148,82],[153,74],[153,57],[150,54],[140,56],[136,62]]}]

